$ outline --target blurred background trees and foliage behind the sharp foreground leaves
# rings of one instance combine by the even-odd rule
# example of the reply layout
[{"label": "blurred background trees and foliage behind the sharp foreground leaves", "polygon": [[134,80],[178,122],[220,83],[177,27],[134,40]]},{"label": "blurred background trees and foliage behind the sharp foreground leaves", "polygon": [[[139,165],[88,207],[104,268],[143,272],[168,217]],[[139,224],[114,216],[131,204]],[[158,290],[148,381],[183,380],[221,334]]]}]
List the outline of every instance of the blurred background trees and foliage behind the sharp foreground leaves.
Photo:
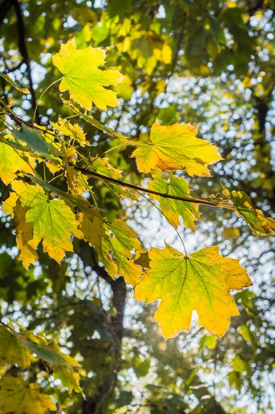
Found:
[{"label": "blurred background trees and foliage behind the sharp foreground leaves", "polygon": [[[125,78],[114,88],[120,105],[94,107],[94,119],[137,141],[147,139],[156,117],[163,125],[196,122],[201,136],[222,148],[225,161],[212,167],[211,179],[190,177],[192,195],[221,192],[222,182],[245,190],[274,217],[274,10],[273,0],[2,0],[1,71],[30,90],[22,97],[1,78],[3,95],[29,121],[41,92],[60,77],[52,64],[60,41],[74,37],[78,48],[105,48],[106,67]],[[43,95],[36,121],[50,127],[58,115],[72,111],[61,106],[56,84]],[[120,143],[83,119],[79,124],[93,145],[85,147],[87,155]],[[144,184],[130,153],[120,147],[107,156],[128,182]],[[110,221],[127,217],[145,247],[162,247],[164,238],[177,246],[150,203],[121,201],[96,179],[92,186],[104,215]],[[61,189],[67,190],[65,180]],[[2,200],[8,190],[1,182]],[[219,341],[194,323],[189,333],[165,342],[151,322],[154,306],[136,304],[123,278],[113,281],[79,239],[61,266],[39,247],[39,263],[24,270],[10,217],[2,214],[2,322],[40,335],[34,350],[26,346],[28,340],[34,346],[32,333],[14,332],[12,341],[23,341],[22,349],[40,359],[29,364],[23,351],[19,364],[1,368],[4,380],[7,371],[14,377],[22,371],[30,377],[32,400],[43,392],[44,406],[54,411],[54,401],[59,413],[272,413],[274,238],[256,239],[228,210],[201,211],[204,223],[197,224],[195,237],[180,230],[187,249],[219,244],[223,255],[243,257],[254,282],[235,295],[241,316]],[[62,359],[56,343],[81,364],[79,378],[72,378],[73,363]],[[2,384],[0,393],[10,386]]]}]

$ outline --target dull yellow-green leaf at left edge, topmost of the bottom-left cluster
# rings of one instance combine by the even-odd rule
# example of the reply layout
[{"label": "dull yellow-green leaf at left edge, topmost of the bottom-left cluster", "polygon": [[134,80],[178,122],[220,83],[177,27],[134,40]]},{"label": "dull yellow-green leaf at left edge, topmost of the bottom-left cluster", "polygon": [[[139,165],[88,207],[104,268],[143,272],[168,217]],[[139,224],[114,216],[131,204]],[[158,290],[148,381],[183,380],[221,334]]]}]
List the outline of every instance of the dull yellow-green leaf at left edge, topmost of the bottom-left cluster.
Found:
[{"label": "dull yellow-green leaf at left edge, topmost of the bottom-left cluster", "polygon": [[5,364],[17,364],[26,369],[30,365],[30,353],[23,348],[19,335],[0,326],[0,366]]}]

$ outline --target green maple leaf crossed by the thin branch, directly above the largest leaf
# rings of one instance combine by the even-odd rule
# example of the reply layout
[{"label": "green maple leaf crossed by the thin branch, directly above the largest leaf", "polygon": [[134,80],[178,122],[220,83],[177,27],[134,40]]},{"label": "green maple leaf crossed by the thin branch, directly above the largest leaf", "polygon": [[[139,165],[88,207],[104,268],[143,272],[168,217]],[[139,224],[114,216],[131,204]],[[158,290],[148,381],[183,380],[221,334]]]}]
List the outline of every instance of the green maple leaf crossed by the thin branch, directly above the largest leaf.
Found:
[{"label": "green maple leaf crossed by the thin branch, directly above the largest leaf", "polygon": [[[183,197],[188,197],[190,194],[188,182],[183,177],[175,177],[174,175],[170,177],[170,181],[161,177],[154,177],[154,181],[150,181],[148,188],[159,193],[181,195]],[[163,198],[153,194],[150,197],[159,201],[163,215],[172,226],[177,228],[180,224],[179,217],[183,217],[184,226],[191,228],[193,232],[195,231],[194,220],[200,220],[198,204]]]}]

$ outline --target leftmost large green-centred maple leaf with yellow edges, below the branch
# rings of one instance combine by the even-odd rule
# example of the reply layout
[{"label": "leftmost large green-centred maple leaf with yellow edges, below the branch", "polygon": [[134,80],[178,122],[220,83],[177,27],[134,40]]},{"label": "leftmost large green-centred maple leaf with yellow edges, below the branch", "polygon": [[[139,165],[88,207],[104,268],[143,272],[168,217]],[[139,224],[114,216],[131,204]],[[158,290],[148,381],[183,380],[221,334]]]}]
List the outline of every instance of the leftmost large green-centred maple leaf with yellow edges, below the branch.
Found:
[{"label": "leftmost large green-centred maple leaf with yellow edges, below the branch", "polygon": [[71,233],[81,234],[77,230],[78,221],[72,210],[63,200],[48,200],[43,188],[31,186],[23,181],[14,181],[13,188],[23,207],[27,206],[26,222],[33,223],[33,238],[28,241],[32,248],[37,248],[43,240],[44,251],[52,259],[61,262],[65,250],[72,252]]}]

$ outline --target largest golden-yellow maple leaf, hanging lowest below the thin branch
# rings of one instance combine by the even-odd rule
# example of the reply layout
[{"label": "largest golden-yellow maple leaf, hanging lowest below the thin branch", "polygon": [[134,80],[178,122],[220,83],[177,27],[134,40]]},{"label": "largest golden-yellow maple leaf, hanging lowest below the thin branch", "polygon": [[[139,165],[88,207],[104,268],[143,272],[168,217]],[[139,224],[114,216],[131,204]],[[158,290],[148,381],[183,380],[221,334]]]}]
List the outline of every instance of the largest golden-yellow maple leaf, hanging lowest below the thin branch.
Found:
[{"label": "largest golden-yellow maple leaf, hanging lowest below the thin branch", "polygon": [[218,246],[202,248],[190,257],[166,245],[149,252],[150,270],[141,276],[134,297],[147,303],[161,299],[154,320],[165,339],[190,327],[192,311],[198,324],[221,337],[230,317],[239,315],[231,289],[251,286],[247,272],[238,260],[222,257]]}]

